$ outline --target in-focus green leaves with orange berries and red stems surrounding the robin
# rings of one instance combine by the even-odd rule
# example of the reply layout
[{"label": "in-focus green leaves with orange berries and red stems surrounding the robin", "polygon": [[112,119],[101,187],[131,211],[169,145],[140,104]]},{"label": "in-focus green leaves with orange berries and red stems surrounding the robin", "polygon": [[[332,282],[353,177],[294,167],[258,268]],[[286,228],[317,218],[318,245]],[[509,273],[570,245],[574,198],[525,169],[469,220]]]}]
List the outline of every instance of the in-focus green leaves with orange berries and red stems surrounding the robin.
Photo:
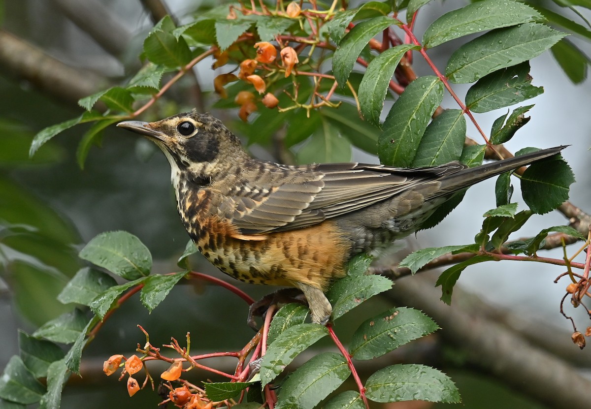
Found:
[{"label": "in-focus green leaves with orange berries and red stems surrounding the robin", "polygon": [[[213,57],[213,67],[223,71],[213,81],[219,95],[216,106],[220,109],[239,106],[238,116],[248,126],[236,127],[248,137],[249,144],[269,146],[276,141],[278,131],[290,124],[280,145],[297,161],[348,161],[352,147],[356,147],[377,153],[383,164],[398,167],[433,166],[449,161],[475,166],[482,163],[485,152],[491,158],[502,157],[505,152],[496,145],[514,137],[527,124],[529,118],[524,115],[532,105],[514,108],[510,115],[508,111],[499,117],[488,138],[472,112],[507,108],[540,95],[543,89],[531,84],[528,60],[552,48],[553,55],[573,81],[580,81],[584,77],[581,72],[586,70],[584,55],[564,39],[564,33],[548,27],[545,21],[591,38],[589,30],[541,7],[512,0],[483,0],[431,22],[419,40],[414,24],[418,11],[427,4],[425,0],[371,1],[353,9],[337,9],[337,3],[326,8],[313,1],[304,8],[295,2],[286,8],[282,2],[277,2],[277,8],[256,7],[254,2],[222,6],[196,12],[192,21],[180,27],[172,18],[165,17],[144,40],[142,69],[125,84],[80,99],[79,105],[85,112],[38,132],[31,141],[30,154],[37,158],[50,156],[51,145],[40,148],[51,138],[73,126],[90,123],[92,126],[83,135],[76,153],[82,167],[92,145],[100,141],[103,129],[142,115],[152,106],[160,109],[156,102],[164,98],[170,87],[189,76],[197,64]],[[407,21],[400,14],[404,8]],[[447,61],[444,74],[441,73],[427,50],[470,34],[478,37],[459,46]],[[412,63],[418,56],[431,68],[431,75],[416,76]],[[570,59],[578,61],[576,67],[566,63]],[[362,73],[355,71],[360,67]],[[454,92],[454,83],[473,83],[464,101]],[[441,108],[446,92],[459,109]],[[465,144],[466,121],[476,125],[482,144],[475,141]],[[552,171],[548,172],[547,167]],[[450,252],[466,255],[444,271],[437,282],[442,287],[442,299],[450,303],[454,284],[471,264],[502,259],[548,262],[538,258],[537,252],[550,232],[587,240],[569,226],[554,226],[534,238],[509,242],[511,233],[521,228],[534,212],[543,214],[560,206],[574,181],[569,166],[560,157],[532,165],[518,177],[530,210],[517,212],[517,205],[511,203],[513,189],[509,176],[501,176],[496,186],[498,207],[484,215],[482,229],[473,244],[423,249],[405,258],[401,267],[415,272]],[[0,183],[9,184],[1,179]],[[17,188],[14,190],[17,201],[0,207],[2,245],[22,249],[19,238],[27,236],[39,245],[23,253],[47,260],[48,265],[51,261],[46,257],[47,251],[68,254],[67,265],[51,266],[52,272],[63,274],[60,278],[64,286],[56,294],[57,300],[88,308],[69,310],[43,324],[33,335],[21,334],[21,356],[12,358],[5,369],[0,379],[0,398],[11,407],[40,402],[42,407],[57,408],[67,375],[79,372],[83,348],[129,297],[140,293],[142,304],[151,311],[183,278],[214,280],[188,270],[152,274],[150,251],[126,232],[103,233],[79,253],[80,258],[126,280],[125,283],[118,284],[111,275],[94,267],[79,269],[71,247],[79,238],[71,226]],[[423,228],[439,223],[461,199],[458,195],[447,202]],[[38,215],[35,225],[11,218],[16,214],[11,206],[28,206],[31,213]],[[51,236],[51,243],[59,244],[57,249],[42,245],[46,236]],[[185,266],[184,258],[193,251],[194,246],[188,245],[181,257],[181,267]],[[43,264],[39,267],[22,259],[6,259],[9,267],[19,270],[20,275],[31,269],[50,274]],[[369,262],[371,259],[364,256],[353,259],[349,275],[330,288],[327,296],[334,306],[333,320],[391,287],[389,278],[364,274]],[[587,275],[588,264],[589,257]],[[584,270],[585,266],[568,260],[562,265],[569,268],[571,278],[579,278],[571,294],[573,301],[575,297],[580,301],[589,288],[588,280],[586,275],[574,274],[571,268]],[[219,284],[251,302],[232,285]],[[152,360],[170,362],[171,368],[161,376],[169,381],[169,398],[178,406],[190,408],[214,404],[249,407],[248,403],[242,403],[245,401],[264,401],[269,407],[311,408],[327,397],[327,408],[368,407],[368,400],[459,401],[459,393],[446,375],[422,365],[387,366],[365,382],[359,378],[352,359],[376,359],[437,329],[420,311],[398,307],[370,317],[358,326],[347,350],[331,324],[324,327],[306,323],[307,311],[303,306],[287,304],[271,320],[274,308],[271,306],[259,333],[238,352],[191,356],[187,335],[186,347],[174,339],[166,345],[179,356],[167,358],[151,345],[144,331],[147,342],[138,348],[141,358],[113,355],[105,362],[105,372],[112,374],[119,366],[125,366],[124,374],[129,374],[128,391],[132,395],[139,389],[131,376],[136,369],[144,368]],[[314,356],[285,381],[277,382],[281,388],[275,392],[270,385],[284,374],[285,366],[327,335],[339,353]],[[72,346],[64,355],[56,343]],[[235,374],[223,374],[199,363],[216,354],[238,359]],[[260,372],[250,379],[246,363],[256,363],[258,358],[262,358]],[[135,369],[131,371],[132,366]],[[226,376],[229,381],[205,383],[201,388],[179,380],[196,366]],[[145,372],[146,381],[153,382],[147,369]],[[349,376],[356,389],[343,391],[341,385]],[[47,378],[47,387],[37,380],[42,377]],[[182,386],[173,388],[170,381],[180,382]],[[329,397],[330,394],[333,395]]]}]

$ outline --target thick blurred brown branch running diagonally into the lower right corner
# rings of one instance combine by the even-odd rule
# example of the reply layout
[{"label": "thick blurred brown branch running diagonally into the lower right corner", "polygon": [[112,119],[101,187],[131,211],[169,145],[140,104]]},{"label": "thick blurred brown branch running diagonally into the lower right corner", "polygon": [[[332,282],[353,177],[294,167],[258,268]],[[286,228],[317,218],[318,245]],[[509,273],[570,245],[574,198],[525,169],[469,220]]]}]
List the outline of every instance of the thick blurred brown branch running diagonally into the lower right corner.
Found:
[{"label": "thick blurred brown branch running diagonally into the lower right corner", "polygon": [[[480,316],[471,305],[466,305],[469,303],[459,288],[454,289],[454,304],[448,307],[439,301],[440,291],[426,275],[398,280],[396,287],[397,291],[389,291],[385,296],[395,295],[392,302],[413,305],[433,317],[444,328],[441,336],[462,348],[470,362],[483,371],[551,407],[589,406],[591,381],[556,356]],[[537,331],[544,332],[541,328]],[[572,348],[578,349],[574,345]]]}]

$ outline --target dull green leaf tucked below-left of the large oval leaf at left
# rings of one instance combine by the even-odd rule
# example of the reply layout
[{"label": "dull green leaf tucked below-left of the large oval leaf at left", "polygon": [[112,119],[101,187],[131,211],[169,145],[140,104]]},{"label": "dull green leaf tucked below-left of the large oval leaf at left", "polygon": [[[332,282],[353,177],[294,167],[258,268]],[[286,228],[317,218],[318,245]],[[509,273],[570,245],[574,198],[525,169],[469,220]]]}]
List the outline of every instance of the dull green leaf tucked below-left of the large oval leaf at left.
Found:
[{"label": "dull green leaf tucked below-left of the large oval leaf at left", "polygon": [[77,303],[89,306],[99,294],[116,284],[115,279],[106,272],[85,267],[72,277],[57,299],[63,304]]}]

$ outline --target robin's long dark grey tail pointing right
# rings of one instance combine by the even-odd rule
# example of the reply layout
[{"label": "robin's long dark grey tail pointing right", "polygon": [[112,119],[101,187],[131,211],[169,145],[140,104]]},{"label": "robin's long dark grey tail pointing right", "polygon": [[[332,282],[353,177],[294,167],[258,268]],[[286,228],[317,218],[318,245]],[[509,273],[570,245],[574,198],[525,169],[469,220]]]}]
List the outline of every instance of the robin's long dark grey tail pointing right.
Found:
[{"label": "robin's long dark grey tail pointing right", "polygon": [[548,148],[540,151],[530,152],[521,156],[516,156],[493,163],[487,163],[473,168],[466,168],[456,173],[446,175],[440,179],[441,196],[452,193],[453,191],[472,186],[475,183],[499,175],[501,173],[515,170],[519,167],[532,164],[544,158],[558,154],[567,145]]}]

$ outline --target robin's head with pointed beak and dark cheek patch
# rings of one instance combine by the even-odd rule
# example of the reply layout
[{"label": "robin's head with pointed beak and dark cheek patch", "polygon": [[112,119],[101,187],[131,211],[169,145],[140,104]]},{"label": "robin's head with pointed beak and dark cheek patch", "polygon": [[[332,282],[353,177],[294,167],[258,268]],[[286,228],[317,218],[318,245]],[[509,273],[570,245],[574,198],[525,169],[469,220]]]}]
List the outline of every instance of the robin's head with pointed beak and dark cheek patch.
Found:
[{"label": "robin's head with pointed beak and dark cheek patch", "polygon": [[161,121],[124,121],[117,126],[155,142],[168,158],[173,174],[210,177],[224,164],[246,156],[239,139],[219,119],[195,110]]}]

